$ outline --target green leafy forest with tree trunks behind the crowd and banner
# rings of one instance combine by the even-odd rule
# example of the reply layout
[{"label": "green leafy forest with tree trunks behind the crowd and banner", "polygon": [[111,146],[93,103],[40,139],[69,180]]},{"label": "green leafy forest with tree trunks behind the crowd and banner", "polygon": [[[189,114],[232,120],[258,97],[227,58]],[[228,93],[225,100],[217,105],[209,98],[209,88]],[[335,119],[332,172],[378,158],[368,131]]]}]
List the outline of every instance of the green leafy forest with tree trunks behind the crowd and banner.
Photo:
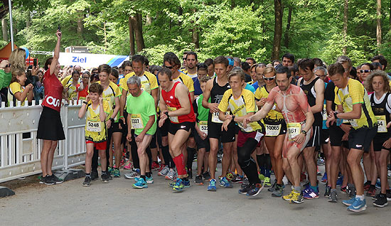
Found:
[{"label": "green leafy forest with tree trunks behind the crowd and banner", "polygon": [[[199,61],[218,55],[269,63],[286,52],[353,65],[382,54],[391,64],[391,0],[16,0],[14,41],[53,51],[61,26],[62,51],[146,55],[161,65],[164,53],[185,50]],[[0,47],[10,41],[9,16],[1,21]],[[41,62],[47,55],[33,55]]]}]

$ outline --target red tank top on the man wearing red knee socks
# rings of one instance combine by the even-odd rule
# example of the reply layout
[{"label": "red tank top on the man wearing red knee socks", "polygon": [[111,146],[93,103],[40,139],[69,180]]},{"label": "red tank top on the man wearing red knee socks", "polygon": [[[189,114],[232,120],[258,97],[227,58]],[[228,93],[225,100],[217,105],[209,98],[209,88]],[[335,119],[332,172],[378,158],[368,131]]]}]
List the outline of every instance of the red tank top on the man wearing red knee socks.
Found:
[{"label": "red tank top on the man wearing red knee socks", "polygon": [[[163,97],[164,102],[166,102],[169,112],[181,108],[181,103],[179,102],[178,98],[175,97],[175,88],[180,83],[181,82],[175,82],[172,89],[168,92],[161,90],[161,96]],[[195,114],[194,114],[193,104],[191,104],[190,93],[188,94],[188,101],[190,102],[190,106],[191,106],[190,113],[178,117],[170,117],[170,121],[172,123],[178,124],[182,122],[195,122]]]}]

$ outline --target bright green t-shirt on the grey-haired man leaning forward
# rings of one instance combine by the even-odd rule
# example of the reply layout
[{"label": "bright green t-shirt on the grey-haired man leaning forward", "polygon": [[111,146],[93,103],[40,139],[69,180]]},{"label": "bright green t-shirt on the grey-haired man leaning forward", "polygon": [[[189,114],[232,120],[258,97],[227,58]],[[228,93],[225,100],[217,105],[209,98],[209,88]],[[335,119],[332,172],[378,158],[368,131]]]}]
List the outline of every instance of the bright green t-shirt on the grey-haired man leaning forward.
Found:
[{"label": "bright green t-shirt on the grey-haired man leaning forward", "polygon": [[148,92],[141,92],[139,97],[129,95],[127,97],[127,112],[131,114],[132,129],[134,134],[139,135],[146,126],[151,115],[155,116],[155,122],[146,134],[154,135],[156,132],[156,109],[155,100]]}]

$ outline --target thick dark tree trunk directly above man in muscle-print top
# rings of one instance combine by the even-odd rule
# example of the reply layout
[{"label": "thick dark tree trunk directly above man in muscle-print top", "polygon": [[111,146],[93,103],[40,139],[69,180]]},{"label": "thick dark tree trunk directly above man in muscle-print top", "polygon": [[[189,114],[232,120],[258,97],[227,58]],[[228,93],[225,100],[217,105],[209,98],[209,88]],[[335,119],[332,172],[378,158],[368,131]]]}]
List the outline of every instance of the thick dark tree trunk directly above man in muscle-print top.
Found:
[{"label": "thick dark tree trunk directly above man in muscle-print top", "polygon": [[274,0],[274,40],[272,60],[279,59],[282,37],[282,0]]}]

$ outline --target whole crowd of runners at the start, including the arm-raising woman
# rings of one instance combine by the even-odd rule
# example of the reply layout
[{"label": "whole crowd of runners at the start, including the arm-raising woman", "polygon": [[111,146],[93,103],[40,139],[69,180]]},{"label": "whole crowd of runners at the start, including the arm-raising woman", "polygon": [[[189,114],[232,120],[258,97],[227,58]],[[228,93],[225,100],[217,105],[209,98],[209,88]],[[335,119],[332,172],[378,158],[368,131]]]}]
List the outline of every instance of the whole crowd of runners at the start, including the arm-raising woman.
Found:
[{"label": "whole crowd of runners at the start, including the arm-raising woman", "polygon": [[[59,31],[57,36],[59,50]],[[365,195],[377,207],[391,200],[391,77],[382,55],[353,67],[344,55],[330,65],[319,58],[296,60],[291,53],[271,63],[231,56],[201,63],[188,51],[182,61],[166,53],[161,66],[133,55],[119,68],[75,66],[61,76],[56,53],[45,63],[43,111],[60,111],[49,95],[53,84],[62,86],[54,99],[82,99],[83,186],[99,178],[99,157],[102,183],[120,178],[123,167],[129,170],[124,178],[139,189],[151,186],[154,176],[164,176],[174,192],[191,190],[192,184],[205,183],[205,190],[216,191],[240,183],[240,194],[252,197],[267,188],[268,195],[296,204],[319,198],[324,184],[329,202],[347,193],[350,199],[341,203],[353,212],[367,208]],[[33,99],[23,92],[33,87],[12,76],[18,85],[9,86],[11,97]],[[38,138],[47,144],[41,183],[53,185],[62,181],[51,173],[51,151],[65,137],[48,138],[50,129],[41,121],[54,119],[51,113],[43,115]],[[326,172],[319,181],[318,165],[323,164]]]}]

